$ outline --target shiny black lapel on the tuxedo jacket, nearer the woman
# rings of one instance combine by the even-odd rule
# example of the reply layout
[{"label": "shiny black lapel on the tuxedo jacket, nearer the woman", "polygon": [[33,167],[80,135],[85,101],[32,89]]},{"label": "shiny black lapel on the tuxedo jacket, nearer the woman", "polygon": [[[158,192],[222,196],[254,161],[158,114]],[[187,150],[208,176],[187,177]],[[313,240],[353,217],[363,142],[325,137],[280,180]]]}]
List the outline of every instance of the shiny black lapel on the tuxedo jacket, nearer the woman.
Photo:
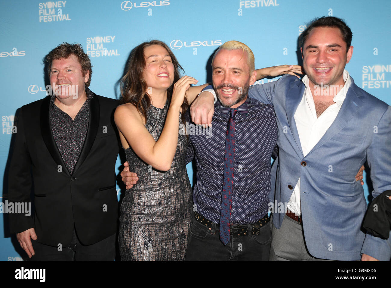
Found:
[{"label": "shiny black lapel on the tuxedo jacket, nearer the woman", "polygon": [[98,132],[100,107],[98,96],[96,94],[93,94],[93,97],[91,98],[88,107],[90,109],[90,117],[88,120],[87,136],[72,174],[75,174],[77,169],[80,168],[80,166],[83,164],[84,160],[88,156],[88,153],[90,153],[91,147],[95,141]]}]

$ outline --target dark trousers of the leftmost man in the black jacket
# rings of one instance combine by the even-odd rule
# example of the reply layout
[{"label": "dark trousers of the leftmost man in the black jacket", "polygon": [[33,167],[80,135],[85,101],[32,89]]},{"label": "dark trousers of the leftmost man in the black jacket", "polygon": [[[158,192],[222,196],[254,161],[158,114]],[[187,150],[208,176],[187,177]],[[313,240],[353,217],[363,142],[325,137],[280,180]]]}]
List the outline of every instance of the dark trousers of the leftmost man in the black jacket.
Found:
[{"label": "dark trousers of the leftmost man in the black jacket", "polygon": [[31,261],[114,261],[116,234],[95,244],[83,245],[76,232],[66,247],[53,247],[31,240],[35,255]]}]

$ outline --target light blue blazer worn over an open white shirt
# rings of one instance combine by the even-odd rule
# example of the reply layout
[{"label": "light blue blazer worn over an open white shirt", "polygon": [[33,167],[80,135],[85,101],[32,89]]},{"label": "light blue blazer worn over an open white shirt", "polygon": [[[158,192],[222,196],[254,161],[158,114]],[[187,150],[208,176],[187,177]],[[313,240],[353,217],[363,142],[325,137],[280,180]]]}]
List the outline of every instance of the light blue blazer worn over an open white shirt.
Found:
[{"label": "light blue blazer worn over an open white shirt", "polygon": [[[373,197],[391,189],[391,107],[352,79],[337,118],[304,157],[294,121],[304,90],[304,83],[291,75],[249,90],[249,97],[273,105],[277,116],[279,156],[269,198],[288,203],[300,177],[304,237],[312,256],[349,261],[365,253],[389,261],[391,238],[373,237],[361,228],[367,204],[354,176],[368,161]],[[284,214],[274,213],[276,228]]]}]

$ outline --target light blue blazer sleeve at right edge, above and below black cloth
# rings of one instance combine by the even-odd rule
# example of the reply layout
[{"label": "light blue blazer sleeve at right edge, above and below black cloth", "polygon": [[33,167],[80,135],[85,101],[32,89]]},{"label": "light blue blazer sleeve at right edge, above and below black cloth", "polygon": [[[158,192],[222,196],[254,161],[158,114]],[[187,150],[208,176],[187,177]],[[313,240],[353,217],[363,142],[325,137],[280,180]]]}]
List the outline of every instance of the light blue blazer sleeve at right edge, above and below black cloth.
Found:
[{"label": "light blue blazer sleeve at right edge, above and below black cloth", "polygon": [[[373,133],[372,143],[366,152],[368,166],[371,169],[372,196],[375,198],[383,191],[391,190],[391,106],[387,107],[378,125],[373,127]],[[367,254],[380,261],[389,261],[391,234],[387,240],[366,234],[361,254]]]}]

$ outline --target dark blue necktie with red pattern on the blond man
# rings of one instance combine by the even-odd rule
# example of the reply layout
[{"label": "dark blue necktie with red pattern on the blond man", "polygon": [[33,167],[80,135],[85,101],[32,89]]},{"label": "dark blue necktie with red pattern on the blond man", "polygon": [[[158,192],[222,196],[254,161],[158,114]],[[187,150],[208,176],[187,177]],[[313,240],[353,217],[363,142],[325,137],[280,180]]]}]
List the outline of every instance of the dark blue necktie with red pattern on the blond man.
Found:
[{"label": "dark blue necktie with red pattern on the blond man", "polygon": [[230,219],[232,209],[232,186],[235,162],[235,115],[236,110],[230,110],[224,150],[224,181],[222,183],[220,210],[220,240],[224,245],[230,242]]}]

